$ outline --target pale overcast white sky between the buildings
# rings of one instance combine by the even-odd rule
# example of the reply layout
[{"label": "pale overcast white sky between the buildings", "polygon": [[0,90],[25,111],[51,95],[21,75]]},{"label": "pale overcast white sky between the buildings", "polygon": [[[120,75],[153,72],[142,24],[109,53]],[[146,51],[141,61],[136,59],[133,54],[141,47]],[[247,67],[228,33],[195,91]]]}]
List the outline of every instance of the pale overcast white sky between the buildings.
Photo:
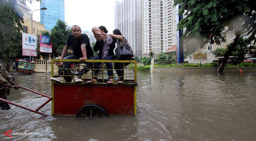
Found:
[{"label": "pale overcast white sky between the buildings", "polygon": [[[91,31],[92,27],[103,25],[108,33],[114,30],[114,6],[116,1],[122,0],[64,0],[65,22],[67,25],[80,26],[81,30]],[[40,9],[40,2],[26,1],[27,6],[33,11]],[[33,20],[40,21],[40,10],[33,12]]]}]

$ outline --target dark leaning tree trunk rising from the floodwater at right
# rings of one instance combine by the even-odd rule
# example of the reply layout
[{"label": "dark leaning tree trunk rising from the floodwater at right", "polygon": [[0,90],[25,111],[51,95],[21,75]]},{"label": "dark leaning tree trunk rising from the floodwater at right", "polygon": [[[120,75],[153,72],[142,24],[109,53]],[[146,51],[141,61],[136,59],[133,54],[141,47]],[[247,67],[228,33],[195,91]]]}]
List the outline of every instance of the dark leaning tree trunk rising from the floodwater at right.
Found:
[{"label": "dark leaning tree trunk rising from the floodwater at right", "polygon": [[232,54],[232,52],[235,50],[235,46],[237,46],[238,40],[241,36],[241,34],[235,34],[236,37],[234,39],[234,42],[232,43],[232,46],[228,46],[227,52],[224,54],[224,59],[221,62],[221,65],[218,68],[218,73],[223,73],[224,65],[227,63],[227,59],[229,59],[229,56]]}]

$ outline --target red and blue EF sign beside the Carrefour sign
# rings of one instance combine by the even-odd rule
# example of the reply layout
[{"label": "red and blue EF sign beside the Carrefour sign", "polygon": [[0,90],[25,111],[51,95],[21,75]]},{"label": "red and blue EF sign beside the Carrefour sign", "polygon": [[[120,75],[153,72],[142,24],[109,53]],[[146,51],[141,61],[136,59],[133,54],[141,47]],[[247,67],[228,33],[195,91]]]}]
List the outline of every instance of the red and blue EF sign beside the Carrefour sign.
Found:
[{"label": "red and blue EF sign beside the Carrefour sign", "polygon": [[52,53],[52,42],[50,36],[40,35],[40,52],[41,53]]}]

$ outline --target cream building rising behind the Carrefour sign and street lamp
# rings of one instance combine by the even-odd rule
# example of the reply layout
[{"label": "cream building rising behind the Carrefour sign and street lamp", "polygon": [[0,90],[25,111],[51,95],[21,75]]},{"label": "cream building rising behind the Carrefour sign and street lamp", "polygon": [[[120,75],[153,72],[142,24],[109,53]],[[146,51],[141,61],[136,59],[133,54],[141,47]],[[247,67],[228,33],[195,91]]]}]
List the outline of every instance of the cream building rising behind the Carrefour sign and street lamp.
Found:
[{"label": "cream building rising behind the Carrefour sign and street lamp", "polygon": [[[48,31],[45,29],[45,25],[36,22],[33,20],[33,30],[31,29],[31,11],[29,7],[26,5],[24,0],[17,0],[17,4],[19,8],[21,8],[21,11],[23,12],[23,19],[24,23],[22,23],[22,28],[24,33],[33,34],[33,35],[39,35],[42,31]],[[31,30],[33,32],[31,32]],[[51,31],[48,31],[51,32]]]}]

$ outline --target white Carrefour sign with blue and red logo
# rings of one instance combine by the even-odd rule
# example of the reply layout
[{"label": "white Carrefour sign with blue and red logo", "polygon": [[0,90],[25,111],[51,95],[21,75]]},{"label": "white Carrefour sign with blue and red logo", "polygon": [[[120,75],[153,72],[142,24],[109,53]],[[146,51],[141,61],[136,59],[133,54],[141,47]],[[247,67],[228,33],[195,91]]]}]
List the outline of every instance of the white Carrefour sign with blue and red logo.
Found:
[{"label": "white Carrefour sign with blue and red logo", "polygon": [[22,55],[37,56],[37,36],[22,33]]}]

